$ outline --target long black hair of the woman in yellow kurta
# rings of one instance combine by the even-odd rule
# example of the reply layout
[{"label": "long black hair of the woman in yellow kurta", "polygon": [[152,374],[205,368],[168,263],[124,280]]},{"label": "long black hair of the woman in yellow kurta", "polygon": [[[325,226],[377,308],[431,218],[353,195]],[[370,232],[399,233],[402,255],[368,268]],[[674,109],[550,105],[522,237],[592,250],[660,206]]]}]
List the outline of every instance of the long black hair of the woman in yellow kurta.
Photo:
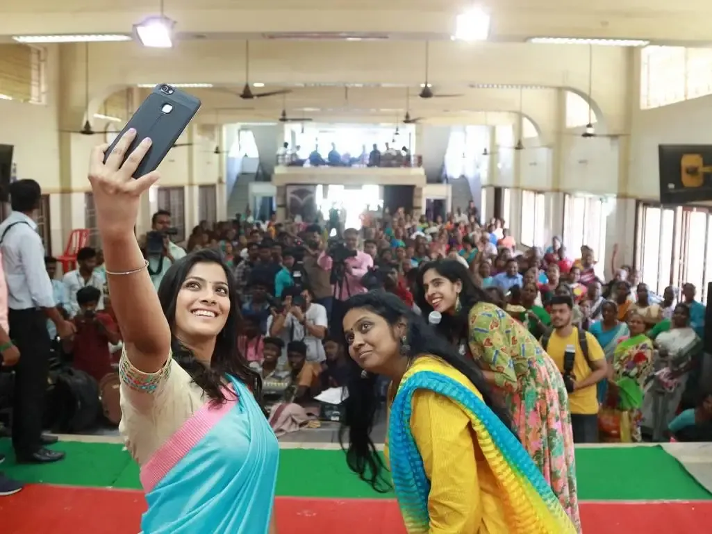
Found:
[{"label": "long black hair of the woman in yellow kurta", "polygon": [[[512,428],[511,417],[493,399],[490,387],[485,382],[482,372],[473,360],[461,355],[444,337],[438,335],[421,315],[407,307],[396,295],[384,291],[371,291],[349,298],[345,302],[345,311],[365,308],[384,318],[391,326],[404,320],[407,323],[407,345],[409,359],[420,355],[432,355],[441,358],[461,372],[482,394],[488,407],[507,426]],[[345,400],[345,417],[340,429],[340,442],[346,451],[349,468],[379,493],[390,489],[390,483],[384,477],[384,464],[371,439],[371,431],[378,412],[381,394],[377,375],[363,373],[358,364],[348,358],[349,375],[347,388],[349,396]],[[345,444],[348,434],[348,443]]]}]

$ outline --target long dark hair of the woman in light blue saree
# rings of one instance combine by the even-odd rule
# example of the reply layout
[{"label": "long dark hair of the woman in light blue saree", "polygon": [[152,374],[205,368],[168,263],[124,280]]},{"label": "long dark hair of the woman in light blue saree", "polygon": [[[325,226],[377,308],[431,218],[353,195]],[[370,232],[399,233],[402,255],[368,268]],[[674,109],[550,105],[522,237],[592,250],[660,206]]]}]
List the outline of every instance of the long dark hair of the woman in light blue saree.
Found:
[{"label": "long dark hair of the woman in light blue saree", "polygon": [[[216,337],[210,367],[206,367],[196,360],[192,350],[183,345],[173,333],[178,293],[188,273],[197,263],[216,263],[223,268],[230,298],[230,311],[227,314],[225,326]],[[237,330],[240,322],[239,299],[232,273],[222,256],[216,251],[204,248],[189,253],[176,261],[161,281],[158,288],[158,300],[171,328],[173,358],[188,372],[193,382],[198,384],[212,401],[225,402],[224,376],[231,375],[249,387],[254,397],[259,401],[262,392],[262,379],[258,373],[250,369],[247,360],[237,348]]]}]

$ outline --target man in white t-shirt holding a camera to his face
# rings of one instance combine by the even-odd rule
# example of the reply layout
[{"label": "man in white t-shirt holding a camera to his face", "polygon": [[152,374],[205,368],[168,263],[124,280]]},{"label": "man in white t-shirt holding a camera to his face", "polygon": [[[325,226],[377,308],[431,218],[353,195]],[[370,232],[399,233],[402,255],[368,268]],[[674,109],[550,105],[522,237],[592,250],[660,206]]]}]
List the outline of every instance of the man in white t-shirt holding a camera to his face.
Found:
[{"label": "man in white t-shirt holding a camera to his face", "polygon": [[287,345],[290,341],[303,341],[307,347],[308,362],[326,360],[322,340],[326,335],[328,318],[326,308],[313,302],[310,290],[298,293],[296,288],[287,288],[283,293],[284,310],[267,319],[267,332],[271,337],[279,337],[284,342],[281,362],[287,360]]}]

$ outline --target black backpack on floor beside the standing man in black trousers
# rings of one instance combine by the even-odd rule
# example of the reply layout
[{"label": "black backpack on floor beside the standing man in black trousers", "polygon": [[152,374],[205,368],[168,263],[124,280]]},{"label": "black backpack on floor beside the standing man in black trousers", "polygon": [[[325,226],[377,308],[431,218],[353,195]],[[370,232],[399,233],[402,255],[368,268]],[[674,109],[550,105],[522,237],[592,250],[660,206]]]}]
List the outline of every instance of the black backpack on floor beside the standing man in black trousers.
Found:
[{"label": "black backpack on floor beside the standing man in black trousers", "polygon": [[90,429],[102,412],[96,380],[72,367],[57,373],[48,402],[49,424],[61,434]]}]

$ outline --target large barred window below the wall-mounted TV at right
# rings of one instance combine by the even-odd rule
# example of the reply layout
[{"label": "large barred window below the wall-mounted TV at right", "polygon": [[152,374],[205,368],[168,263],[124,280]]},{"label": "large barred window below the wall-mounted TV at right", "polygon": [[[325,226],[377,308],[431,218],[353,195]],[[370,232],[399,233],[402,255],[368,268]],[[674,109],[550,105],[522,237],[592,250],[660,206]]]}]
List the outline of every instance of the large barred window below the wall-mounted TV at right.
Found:
[{"label": "large barred window below the wall-mounted TV at right", "polygon": [[712,281],[712,211],[696,206],[638,204],[637,266],[641,280],[661,295],[667,286],[692,283],[705,302]]}]

